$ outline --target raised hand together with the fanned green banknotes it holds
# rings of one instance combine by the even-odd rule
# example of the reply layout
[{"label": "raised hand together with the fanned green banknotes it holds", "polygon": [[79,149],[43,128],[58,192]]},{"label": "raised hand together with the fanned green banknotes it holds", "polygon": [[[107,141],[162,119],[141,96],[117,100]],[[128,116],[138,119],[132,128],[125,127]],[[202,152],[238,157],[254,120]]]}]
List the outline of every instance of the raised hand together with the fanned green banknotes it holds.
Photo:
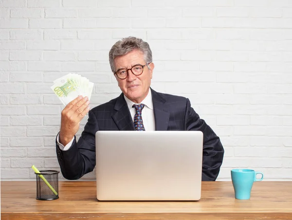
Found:
[{"label": "raised hand together with the fanned green banknotes it holds", "polygon": [[66,146],[77,133],[80,121],[89,111],[93,83],[78,74],[69,73],[54,81],[51,89],[66,106],[61,113],[59,142]]}]

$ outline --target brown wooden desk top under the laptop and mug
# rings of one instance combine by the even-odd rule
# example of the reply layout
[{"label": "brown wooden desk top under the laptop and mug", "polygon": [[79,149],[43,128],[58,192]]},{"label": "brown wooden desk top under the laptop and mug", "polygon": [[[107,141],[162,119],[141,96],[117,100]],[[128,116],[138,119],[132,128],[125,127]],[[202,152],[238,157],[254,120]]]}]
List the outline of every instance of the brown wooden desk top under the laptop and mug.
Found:
[{"label": "brown wooden desk top under the laptop and mug", "polygon": [[203,182],[199,202],[98,202],[95,182],[59,182],[59,199],[36,200],[36,182],[1,182],[1,220],[292,220],[292,182],[254,183],[236,200],[231,182]]}]

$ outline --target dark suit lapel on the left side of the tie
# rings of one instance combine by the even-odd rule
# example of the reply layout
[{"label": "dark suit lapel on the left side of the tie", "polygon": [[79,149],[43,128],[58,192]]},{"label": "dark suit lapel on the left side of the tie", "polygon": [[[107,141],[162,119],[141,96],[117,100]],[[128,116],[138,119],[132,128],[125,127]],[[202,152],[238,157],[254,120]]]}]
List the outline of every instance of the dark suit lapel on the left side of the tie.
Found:
[{"label": "dark suit lapel on the left side of the tie", "polygon": [[131,114],[123,93],[118,97],[114,106],[114,110],[116,110],[116,113],[111,117],[119,130],[135,130],[134,123],[132,121]]}]

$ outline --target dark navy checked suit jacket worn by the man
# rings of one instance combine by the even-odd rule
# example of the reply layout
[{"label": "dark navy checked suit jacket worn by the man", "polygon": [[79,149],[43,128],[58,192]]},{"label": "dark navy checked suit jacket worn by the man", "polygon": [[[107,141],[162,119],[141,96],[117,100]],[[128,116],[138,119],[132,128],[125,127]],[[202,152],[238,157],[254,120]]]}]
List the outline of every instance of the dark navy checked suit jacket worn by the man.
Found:
[{"label": "dark navy checked suit jacket worn by the man", "polygon": [[[224,149],[219,137],[181,96],[151,89],[156,130],[201,130],[203,132],[202,181],[215,181],[223,160]],[[66,179],[76,180],[95,167],[95,132],[98,130],[135,130],[127,103],[119,97],[89,111],[89,119],[78,142],[74,138],[69,150],[56,143],[61,172]]]}]

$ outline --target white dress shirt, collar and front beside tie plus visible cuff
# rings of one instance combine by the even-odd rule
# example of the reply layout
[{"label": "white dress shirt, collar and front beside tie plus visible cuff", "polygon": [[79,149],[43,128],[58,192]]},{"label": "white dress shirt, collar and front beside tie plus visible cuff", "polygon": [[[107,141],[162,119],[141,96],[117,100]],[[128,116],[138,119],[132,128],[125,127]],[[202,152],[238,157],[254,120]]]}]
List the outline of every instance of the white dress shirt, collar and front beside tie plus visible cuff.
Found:
[{"label": "white dress shirt, collar and front beside tie plus visible cuff", "polygon": [[[153,102],[152,102],[152,95],[151,95],[151,90],[149,89],[149,92],[146,96],[146,98],[141,102],[141,103],[135,103],[132,102],[131,100],[128,99],[128,97],[124,94],[124,98],[126,100],[126,103],[128,105],[128,109],[130,111],[133,123],[134,123],[134,116],[136,114],[136,109],[132,107],[134,104],[144,104],[144,108],[141,112],[142,115],[142,120],[143,120],[143,125],[146,131],[148,130],[155,130],[155,118],[154,118],[154,110],[153,110]],[[57,144],[61,150],[69,150],[70,147],[73,144],[74,138],[64,147],[59,142],[59,134],[57,135]]]}]

